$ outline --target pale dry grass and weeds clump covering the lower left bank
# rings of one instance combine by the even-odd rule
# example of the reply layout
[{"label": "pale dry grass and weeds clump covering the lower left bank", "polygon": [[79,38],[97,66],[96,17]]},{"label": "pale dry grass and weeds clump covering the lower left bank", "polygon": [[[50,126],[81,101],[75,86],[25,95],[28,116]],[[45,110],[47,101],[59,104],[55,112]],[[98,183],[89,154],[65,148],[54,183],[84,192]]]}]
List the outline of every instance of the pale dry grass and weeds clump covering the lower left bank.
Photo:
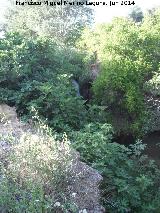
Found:
[{"label": "pale dry grass and weeds clump covering the lower left bank", "polygon": [[43,125],[35,134],[23,133],[19,140],[13,135],[2,139],[11,150],[0,164],[1,212],[76,212],[66,197],[73,175],[73,151],[66,135],[60,142]]}]

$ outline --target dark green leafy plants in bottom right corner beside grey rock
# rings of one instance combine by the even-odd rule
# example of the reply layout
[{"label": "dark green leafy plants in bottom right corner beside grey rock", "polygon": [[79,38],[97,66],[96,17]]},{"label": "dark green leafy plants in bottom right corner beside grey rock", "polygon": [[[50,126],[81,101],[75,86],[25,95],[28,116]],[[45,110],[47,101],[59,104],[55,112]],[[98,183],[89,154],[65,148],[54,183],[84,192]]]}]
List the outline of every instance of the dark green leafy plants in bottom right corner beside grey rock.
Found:
[{"label": "dark green leafy plants in bottom right corner beside grey rock", "polygon": [[160,170],[142,155],[144,144],[126,148],[115,143],[110,150],[104,171],[104,202],[110,211],[158,212]]}]

